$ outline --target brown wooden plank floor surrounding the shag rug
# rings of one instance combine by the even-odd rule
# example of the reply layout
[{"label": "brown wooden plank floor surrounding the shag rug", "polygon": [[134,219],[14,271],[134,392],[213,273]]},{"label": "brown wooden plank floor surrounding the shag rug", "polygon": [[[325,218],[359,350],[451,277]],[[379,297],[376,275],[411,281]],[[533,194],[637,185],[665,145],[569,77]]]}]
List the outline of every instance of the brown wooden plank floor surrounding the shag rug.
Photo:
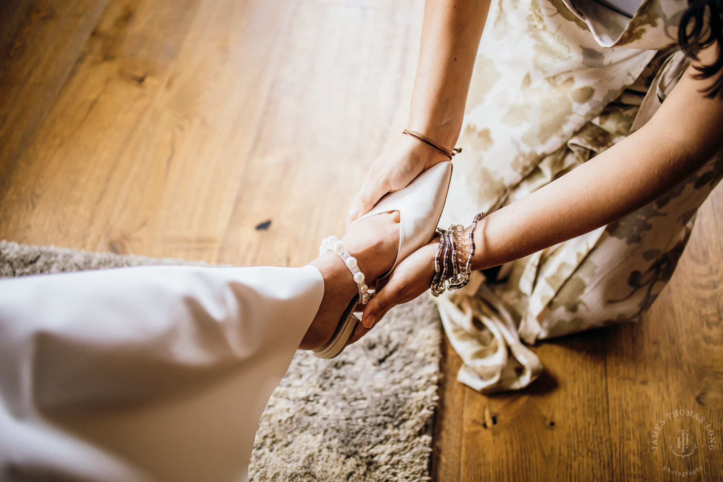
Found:
[{"label": "brown wooden plank floor surrounding the shag rug", "polygon": [[[406,124],[423,4],[4,1],[0,238],[305,264]],[[680,408],[720,441],[722,189],[643,321],[540,343],[526,390],[458,384],[445,343],[435,480],[723,480],[699,431],[685,459],[650,443]]]}]

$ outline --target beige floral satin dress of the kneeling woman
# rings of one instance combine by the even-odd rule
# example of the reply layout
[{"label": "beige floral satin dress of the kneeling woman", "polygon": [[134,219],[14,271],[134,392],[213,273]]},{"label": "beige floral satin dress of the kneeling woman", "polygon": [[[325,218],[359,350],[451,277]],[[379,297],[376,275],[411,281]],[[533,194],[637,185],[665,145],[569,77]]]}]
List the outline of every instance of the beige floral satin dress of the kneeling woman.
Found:
[{"label": "beige floral satin dress of the kneeling woman", "polygon": [[[641,106],[649,119],[685,66],[666,49],[686,8],[684,0],[644,0],[631,19],[594,0],[494,1],[440,225],[468,225],[585,163],[630,133]],[[521,340],[636,321],[672,275],[696,210],[722,176],[719,157],[616,223],[438,298],[464,361],[458,379],[482,392],[516,390],[542,372]]]}]

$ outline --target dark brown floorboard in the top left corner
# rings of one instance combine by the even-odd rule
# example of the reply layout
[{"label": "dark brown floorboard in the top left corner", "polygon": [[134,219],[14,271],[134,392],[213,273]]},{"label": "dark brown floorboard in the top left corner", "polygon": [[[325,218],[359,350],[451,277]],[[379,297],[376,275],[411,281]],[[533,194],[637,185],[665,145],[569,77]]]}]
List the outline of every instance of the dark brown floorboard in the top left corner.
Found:
[{"label": "dark brown floorboard in the top left corner", "polygon": [[0,54],[6,60],[0,70],[0,191],[12,186],[14,168],[32,149],[104,5],[98,0],[36,0],[2,7]]}]

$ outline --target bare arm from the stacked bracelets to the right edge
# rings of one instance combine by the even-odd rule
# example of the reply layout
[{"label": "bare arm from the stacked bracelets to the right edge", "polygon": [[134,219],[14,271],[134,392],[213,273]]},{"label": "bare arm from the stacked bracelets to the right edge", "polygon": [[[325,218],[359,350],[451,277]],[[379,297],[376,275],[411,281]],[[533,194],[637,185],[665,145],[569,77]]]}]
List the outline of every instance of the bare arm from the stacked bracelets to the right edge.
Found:
[{"label": "bare arm from the stacked bracelets to the right edge", "polygon": [[473,270],[588,233],[653,201],[722,147],[723,102],[680,80],[646,126],[579,168],[480,223]]}]

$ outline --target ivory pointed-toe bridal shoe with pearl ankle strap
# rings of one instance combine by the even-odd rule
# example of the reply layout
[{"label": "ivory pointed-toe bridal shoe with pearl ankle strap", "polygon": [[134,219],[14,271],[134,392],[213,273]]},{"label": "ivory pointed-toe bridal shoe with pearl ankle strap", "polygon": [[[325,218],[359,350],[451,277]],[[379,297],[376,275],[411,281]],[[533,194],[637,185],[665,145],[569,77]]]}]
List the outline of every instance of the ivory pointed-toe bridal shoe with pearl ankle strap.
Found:
[{"label": "ivory pointed-toe bridal shoe with pearl ankle strap", "polygon": [[[411,181],[404,189],[385,195],[371,211],[354,220],[354,223],[356,223],[356,221],[382,214],[383,212],[399,211],[399,248],[397,258],[392,268],[379,279],[391,275],[394,268],[397,267],[403,259],[429,243],[432,239],[437,228],[437,223],[439,223],[440,216],[442,215],[442,208],[445,207],[451,177],[452,163],[445,161],[433,165],[427,169],[427,171],[416,176],[414,181]],[[352,223],[352,225],[354,223]],[[359,317],[356,317],[354,314],[354,308],[360,300],[366,304],[370,296],[367,294],[367,285],[364,285],[364,275],[356,268],[356,260],[343,249],[341,241],[336,241],[336,238],[332,238],[333,236],[330,236],[322,241],[320,251],[323,252],[327,249],[333,249],[333,251],[344,259],[346,265],[352,270],[352,273],[354,273],[354,281],[359,285],[359,294],[354,295],[354,298],[346,307],[331,339],[319,348],[308,350],[309,353],[317,358],[335,358],[335,356],[338,356],[338,354],[343,351],[348,340],[354,335],[356,326],[359,324]],[[349,258],[353,261],[350,261]]]}]

